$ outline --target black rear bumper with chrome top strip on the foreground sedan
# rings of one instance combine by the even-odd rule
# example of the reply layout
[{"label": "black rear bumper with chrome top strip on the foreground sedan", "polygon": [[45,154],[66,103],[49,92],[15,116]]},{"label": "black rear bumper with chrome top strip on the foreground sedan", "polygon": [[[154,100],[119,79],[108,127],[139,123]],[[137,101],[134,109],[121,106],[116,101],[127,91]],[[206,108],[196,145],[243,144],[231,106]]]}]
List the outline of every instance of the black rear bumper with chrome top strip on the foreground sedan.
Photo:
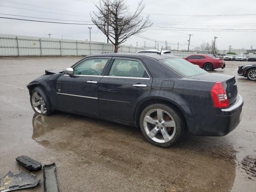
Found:
[{"label": "black rear bumper with chrome top strip on the foreground sedan", "polygon": [[240,123],[243,104],[243,98],[238,94],[236,102],[229,108],[190,107],[194,116],[186,118],[188,133],[201,136],[224,136],[230,133]]}]

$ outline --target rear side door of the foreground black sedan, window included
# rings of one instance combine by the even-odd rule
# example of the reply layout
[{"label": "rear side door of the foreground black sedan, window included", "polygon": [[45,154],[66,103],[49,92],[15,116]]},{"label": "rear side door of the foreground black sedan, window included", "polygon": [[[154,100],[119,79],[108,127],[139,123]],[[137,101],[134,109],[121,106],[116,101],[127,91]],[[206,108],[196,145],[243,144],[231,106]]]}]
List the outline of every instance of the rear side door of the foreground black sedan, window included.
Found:
[{"label": "rear side door of the foreground black sedan, window included", "polygon": [[98,88],[100,115],[133,122],[140,100],[150,94],[152,78],[143,62],[113,58]]}]

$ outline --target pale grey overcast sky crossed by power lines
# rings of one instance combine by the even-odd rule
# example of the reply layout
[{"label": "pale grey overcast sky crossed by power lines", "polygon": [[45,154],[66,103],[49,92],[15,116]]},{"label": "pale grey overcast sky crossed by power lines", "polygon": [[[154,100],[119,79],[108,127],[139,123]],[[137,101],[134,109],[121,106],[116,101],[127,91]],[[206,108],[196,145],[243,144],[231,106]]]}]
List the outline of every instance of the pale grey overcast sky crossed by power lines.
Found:
[{"label": "pale grey overcast sky crossed by power lines", "polygon": [[[93,2],[98,2],[98,0],[0,0],[0,16],[45,20],[20,17],[30,16],[90,22],[90,12],[95,10]],[[127,4],[130,4],[130,12],[132,12],[136,8],[138,0],[127,0]],[[154,24],[150,29],[141,33],[141,35],[172,43],[172,48],[177,48],[177,45],[175,44],[178,42],[180,44],[179,49],[187,48],[188,34],[193,34],[190,41],[192,46],[200,45],[202,42],[211,43],[214,36],[217,36],[216,45],[220,50],[228,50],[229,45],[232,45],[232,48],[250,49],[250,46],[256,48],[255,0],[144,0],[144,4],[146,5],[146,8],[144,9],[142,16],[150,15],[150,19]],[[230,14],[233,16],[223,16]],[[61,22],[58,20],[52,21]],[[52,34],[52,38],[62,38],[63,35],[63,38],[65,39],[89,40],[88,26],[51,24],[0,18],[0,34],[48,37],[48,33],[50,33]],[[156,26],[167,28],[156,28]],[[92,41],[106,42],[106,36],[104,36],[96,26],[90,27],[92,27]],[[223,29],[234,29],[238,31],[226,32],[223,31]],[[241,32],[241,30],[248,31]],[[146,46],[155,45],[154,41],[145,40],[136,36],[130,37],[124,44],[132,44],[133,46],[136,46],[136,42],[138,42],[139,47],[144,46],[144,41],[146,41]],[[162,45],[164,44],[159,44],[159,47]]]}]

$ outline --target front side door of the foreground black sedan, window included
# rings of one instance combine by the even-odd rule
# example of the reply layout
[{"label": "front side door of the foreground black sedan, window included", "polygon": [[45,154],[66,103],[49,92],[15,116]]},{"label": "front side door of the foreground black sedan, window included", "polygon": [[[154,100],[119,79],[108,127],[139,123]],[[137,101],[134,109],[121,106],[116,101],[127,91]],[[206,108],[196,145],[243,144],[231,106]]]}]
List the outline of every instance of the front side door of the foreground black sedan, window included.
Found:
[{"label": "front side door of the foreground black sedan, window included", "polygon": [[74,74],[57,80],[58,107],[99,114],[98,83],[110,58],[86,58],[73,66]]}]

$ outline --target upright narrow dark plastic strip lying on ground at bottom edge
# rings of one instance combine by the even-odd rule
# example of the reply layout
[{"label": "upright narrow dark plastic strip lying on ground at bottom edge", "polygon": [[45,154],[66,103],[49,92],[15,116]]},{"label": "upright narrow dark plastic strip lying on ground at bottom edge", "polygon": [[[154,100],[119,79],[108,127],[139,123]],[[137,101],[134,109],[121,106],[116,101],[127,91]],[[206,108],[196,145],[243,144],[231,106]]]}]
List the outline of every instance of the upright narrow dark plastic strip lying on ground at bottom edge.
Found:
[{"label": "upright narrow dark plastic strip lying on ground at bottom edge", "polygon": [[44,192],[59,192],[57,178],[56,178],[56,165],[44,165]]}]

